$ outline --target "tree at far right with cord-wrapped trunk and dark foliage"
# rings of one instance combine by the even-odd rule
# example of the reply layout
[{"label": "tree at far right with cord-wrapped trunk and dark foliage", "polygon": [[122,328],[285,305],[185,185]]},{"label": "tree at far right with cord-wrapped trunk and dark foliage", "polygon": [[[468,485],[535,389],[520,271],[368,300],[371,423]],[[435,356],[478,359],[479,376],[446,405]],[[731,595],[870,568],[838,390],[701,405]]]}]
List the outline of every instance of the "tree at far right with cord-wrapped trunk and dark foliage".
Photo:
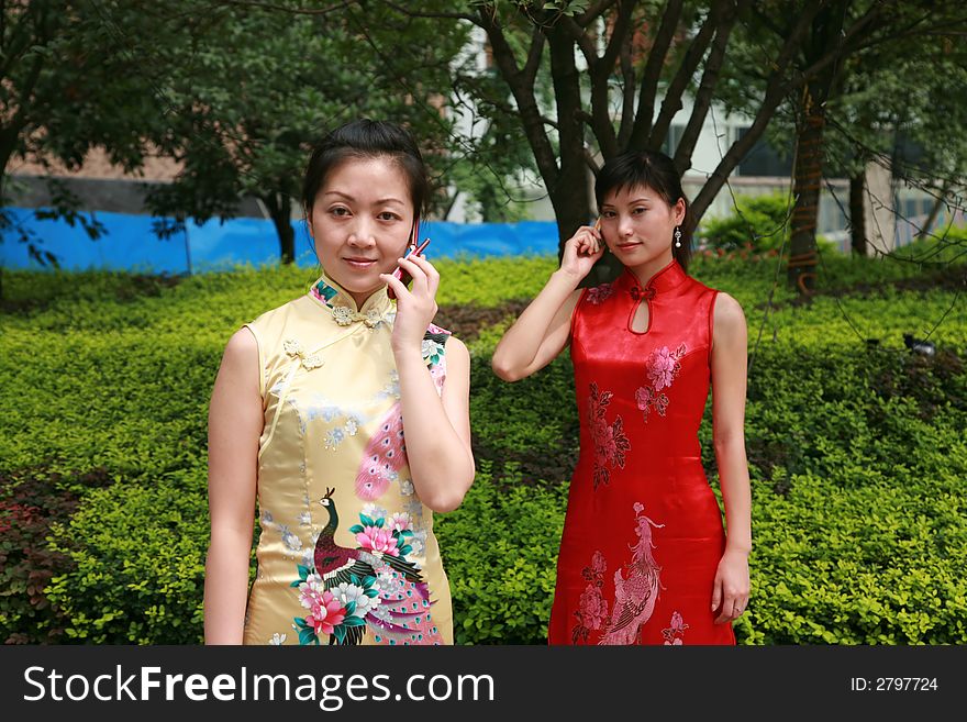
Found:
[{"label": "tree at far right with cord-wrapped trunk and dark foliage", "polygon": [[[804,18],[808,25],[790,66],[790,77],[803,82],[798,88],[790,87],[788,93],[796,163],[787,277],[801,293],[809,293],[816,277],[815,230],[824,165],[851,177],[851,197],[858,203],[865,195],[862,169],[870,157],[885,153],[886,116],[892,118],[893,127],[897,122],[905,124],[905,119],[916,116],[909,111],[915,104],[915,88],[921,82],[911,70],[915,67],[915,73],[924,71],[926,64],[922,60],[929,54],[923,54],[922,48],[936,44],[937,36],[963,34],[967,13],[953,5],[938,8],[925,1],[800,2],[796,3],[796,12],[790,12],[790,3],[756,2],[738,35],[744,62],[733,66],[732,81],[752,88],[768,84],[770,73],[759,68],[787,47],[790,33],[801,26]],[[911,57],[918,60],[911,63]],[[889,95],[892,107],[887,108],[882,96],[872,97],[869,91],[877,84],[881,90],[886,88],[890,74],[902,75],[911,85],[894,88],[897,92]],[[851,102],[851,92],[856,93],[856,102]],[[744,103],[747,112],[755,104],[755,95]],[[741,101],[737,104],[743,107]],[[921,115],[921,121],[931,114],[926,108],[923,111],[926,114]],[[831,113],[836,112],[841,113],[837,126],[853,140],[843,143],[844,138],[840,138],[831,153],[826,147],[827,129]],[[862,212],[854,210],[855,230],[859,219]],[[855,246],[863,244],[857,240]]]}]

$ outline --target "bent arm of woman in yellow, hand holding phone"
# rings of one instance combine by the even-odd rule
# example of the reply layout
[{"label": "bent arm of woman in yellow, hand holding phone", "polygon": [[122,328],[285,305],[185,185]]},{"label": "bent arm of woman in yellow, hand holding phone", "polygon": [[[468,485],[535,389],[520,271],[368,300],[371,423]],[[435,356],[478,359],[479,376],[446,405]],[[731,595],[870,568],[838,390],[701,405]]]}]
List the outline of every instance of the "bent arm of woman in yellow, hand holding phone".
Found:
[{"label": "bent arm of woman in yellow, hand holding phone", "polygon": [[400,259],[400,266],[413,278],[412,291],[399,279],[382,278],[397,297],[392,351],[400,375],[410,473],[424,504],[433,511],[453,511],[463,502],[476,474],[470,448],[470,356],[460,341],[447,340],[446,384],[438,395],[421,349],[423,334],[437,310],[440,274],[422,256]]}]

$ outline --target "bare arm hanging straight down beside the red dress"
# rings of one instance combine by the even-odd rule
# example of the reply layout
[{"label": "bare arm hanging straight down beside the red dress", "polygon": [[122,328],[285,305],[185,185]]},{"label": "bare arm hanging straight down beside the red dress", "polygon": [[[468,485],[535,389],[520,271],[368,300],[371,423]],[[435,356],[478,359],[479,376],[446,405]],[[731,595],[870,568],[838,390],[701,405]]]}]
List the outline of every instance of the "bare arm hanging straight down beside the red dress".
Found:
[{"label": "bare arm hanging straight down beside the red dress", "polygon": [[745,315],[732,297],[720,293],[713,311],[712,435],[727,531],[719,564],[712,609],[716,622],[736,619],[748,603],[752,551],[752,493],[745,455],[747,341]]}]

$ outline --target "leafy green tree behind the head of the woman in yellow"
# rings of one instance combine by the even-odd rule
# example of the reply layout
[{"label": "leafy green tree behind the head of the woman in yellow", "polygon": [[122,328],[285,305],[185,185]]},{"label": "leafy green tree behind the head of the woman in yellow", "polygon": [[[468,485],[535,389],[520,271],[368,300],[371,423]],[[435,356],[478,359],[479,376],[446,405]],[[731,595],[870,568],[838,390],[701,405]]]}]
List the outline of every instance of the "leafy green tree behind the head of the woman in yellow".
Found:
[{"label": "leafy green tree behind the head of the woman in yellow", "polygon": [[[403,122],[430,148],[431,166],[445,163],[452,129],[436,88],[447,82],[464,30],[442,32],[408,18],[373,24],[356,4],[208,7],[219,22],[192,38],[190,62],[167,69],[169,123],[155,141],[184,170],[148,197],[167,219],[163,234],[189,216],[197,223],[231,218],[241,197],[254,196],[275,223],[282,260],[291,263],[291,218],[310,146],[356,116]],[[434,43],[413,40],[431,35]]]}]

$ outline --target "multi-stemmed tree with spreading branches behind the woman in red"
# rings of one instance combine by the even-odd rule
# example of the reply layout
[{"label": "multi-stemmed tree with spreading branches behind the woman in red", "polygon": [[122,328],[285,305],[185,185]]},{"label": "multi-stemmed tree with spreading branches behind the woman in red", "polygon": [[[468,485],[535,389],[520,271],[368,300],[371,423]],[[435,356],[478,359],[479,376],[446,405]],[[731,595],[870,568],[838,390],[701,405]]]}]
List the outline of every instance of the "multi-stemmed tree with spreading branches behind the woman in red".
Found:
[{"label": "multi-stemmed tree with spreading branches behind the woman in red", "polygon": [[[730,36],[752,3],[598,0],[471,4],[473,12],[401,11],[460,19],[487,33],[494,66],[511,90],[513,112],[548,189],[563,241],[590,215],[587,175],[589,167],[597,167],[594,158],[600,154],[607,159],[625,148],[660,148],[686,92],[693,96],[693,105],[675,163],[681,173],[690,167],[729,60]],[[791,64],[822,4],[805,3],[770,58],[752,126],[730,147],[694,199],[693,224],[762,136],[779,104],[810,79],[810,75],[793,76]],[[512,38],[521,33],[526,33],[529,41],[516,49]],[[823,63],[831,63],[838,53],[834,48]],[[536,85],[544,65],[549,66],[554,88],[547,114]]]}]

